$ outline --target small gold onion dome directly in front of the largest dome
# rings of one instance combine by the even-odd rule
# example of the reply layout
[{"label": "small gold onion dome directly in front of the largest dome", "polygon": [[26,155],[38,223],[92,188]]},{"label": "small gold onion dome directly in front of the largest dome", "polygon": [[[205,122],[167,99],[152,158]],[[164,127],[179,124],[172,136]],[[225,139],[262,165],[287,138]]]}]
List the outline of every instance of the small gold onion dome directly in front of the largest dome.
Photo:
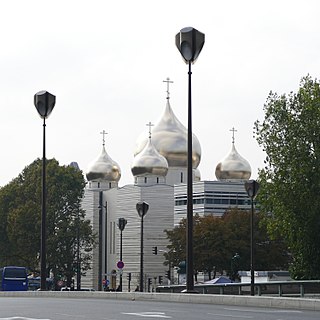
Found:
[{"label": "small gold onion dome directly in front of the largest dome", "polygon": [[135,177],[142,175],[167,175],[168,162],[153,146],[151,139],[149,139],[144,149],[135,156],[131,172]]}]

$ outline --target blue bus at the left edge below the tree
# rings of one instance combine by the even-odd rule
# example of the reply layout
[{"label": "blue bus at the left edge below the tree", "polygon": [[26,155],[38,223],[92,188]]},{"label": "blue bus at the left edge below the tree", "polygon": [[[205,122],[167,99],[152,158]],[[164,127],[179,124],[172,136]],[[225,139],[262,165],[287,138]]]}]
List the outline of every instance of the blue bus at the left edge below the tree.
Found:
[{"label": "blue bus at the left edge below the tree", "polygon": [[25,267],[0,268],[0,291],[27,291],[28,274]]}]

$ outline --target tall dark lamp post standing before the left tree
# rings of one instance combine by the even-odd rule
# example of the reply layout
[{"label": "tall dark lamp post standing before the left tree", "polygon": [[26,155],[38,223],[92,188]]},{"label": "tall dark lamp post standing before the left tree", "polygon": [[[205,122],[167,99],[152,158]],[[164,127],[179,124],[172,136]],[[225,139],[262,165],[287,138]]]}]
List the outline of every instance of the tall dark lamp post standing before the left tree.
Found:
[{"label": "tall dark lamp post standing before the left tree", "polygon": [[42,155],[42,202],[41,202],[41,247],[40,247],[40,289],[46,290],[46,118],[49,117],[56,103],[56,97],[47,91],[34,95],[34,105],[43,119],[43,155]]}]

